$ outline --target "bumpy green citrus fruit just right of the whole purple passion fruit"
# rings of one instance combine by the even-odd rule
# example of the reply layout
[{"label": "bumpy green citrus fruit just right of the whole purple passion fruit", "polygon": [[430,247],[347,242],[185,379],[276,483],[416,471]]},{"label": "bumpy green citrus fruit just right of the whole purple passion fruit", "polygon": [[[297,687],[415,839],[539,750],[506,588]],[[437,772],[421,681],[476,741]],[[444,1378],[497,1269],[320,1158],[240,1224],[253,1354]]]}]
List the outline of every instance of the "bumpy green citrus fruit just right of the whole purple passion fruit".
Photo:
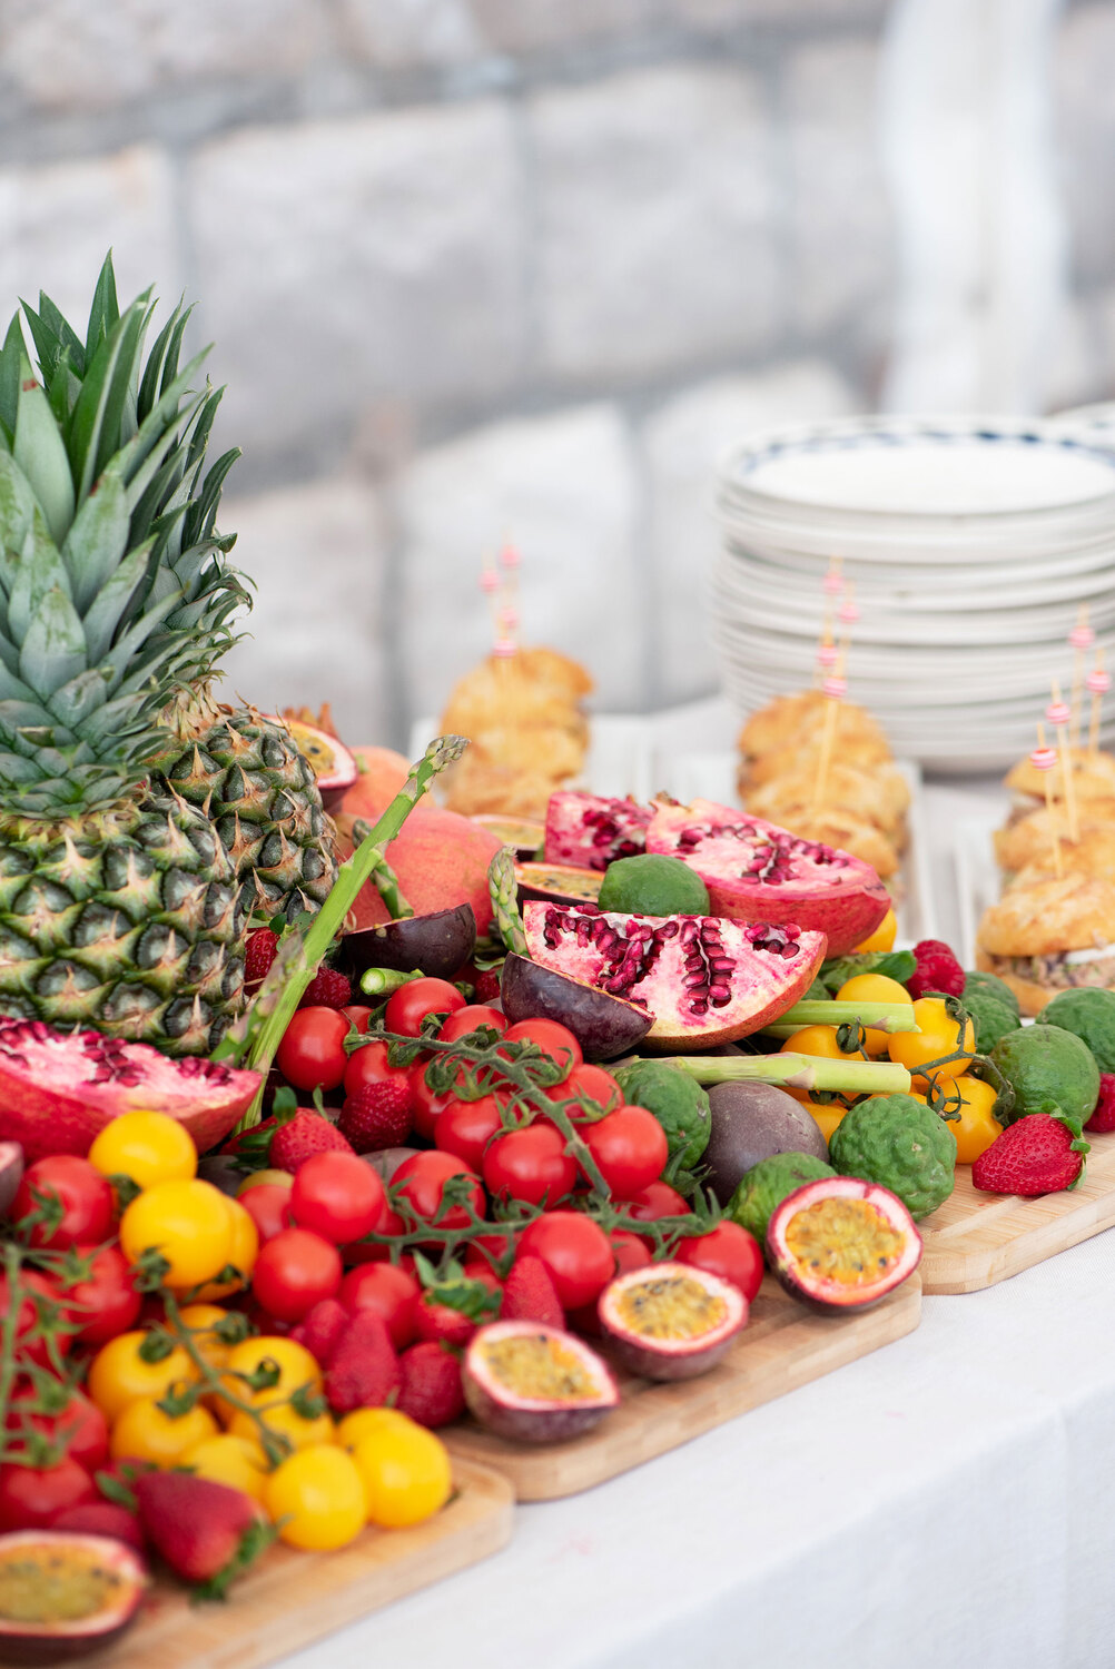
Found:
[{"label": "bumpy green citrus fruit just right of the whole purple passion fruit", "polygon": [[841,1177],[881,1183],[915,1220],[953,1192],[956,1143],[943,1118],[911,1095],[856,1102],[833,1130],[828,1153]]}]

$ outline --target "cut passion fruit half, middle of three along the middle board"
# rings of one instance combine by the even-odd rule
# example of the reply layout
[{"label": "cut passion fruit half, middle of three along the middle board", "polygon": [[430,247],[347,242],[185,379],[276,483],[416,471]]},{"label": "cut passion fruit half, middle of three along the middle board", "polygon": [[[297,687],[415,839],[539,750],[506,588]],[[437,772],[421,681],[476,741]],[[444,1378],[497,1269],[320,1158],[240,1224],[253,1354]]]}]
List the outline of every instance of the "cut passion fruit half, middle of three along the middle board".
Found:
[{"label": "cut passion fruit half, middle of three along the middle board", "polygon": [[721,1360],[748,1320],[731,1282],[688,1263],[651,1263],[618,1275],[599,1297],[604,1335],[643,1379],[696,1379]]}]

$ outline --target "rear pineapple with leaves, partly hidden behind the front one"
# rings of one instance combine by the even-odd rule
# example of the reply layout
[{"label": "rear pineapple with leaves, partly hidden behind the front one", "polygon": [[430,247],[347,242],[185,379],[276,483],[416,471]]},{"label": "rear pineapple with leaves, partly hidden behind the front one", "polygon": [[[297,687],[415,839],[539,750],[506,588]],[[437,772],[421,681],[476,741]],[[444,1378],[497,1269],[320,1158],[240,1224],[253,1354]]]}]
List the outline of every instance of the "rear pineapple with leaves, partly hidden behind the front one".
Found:
[{"label": "rear pineapple with leaves, partly hidden behind the front one", "polygon": [[[47,297],[40,297],[38,312],[25,312],[50,402],[72,404],[82,379],[80,364],[75,369],[77,334]],[[108,257],[97,284],[90,339],[117,317]],[[142,374],[142,332],[129,339],[134,387],[154,392],[177,374],[187,317],[179,305]],[[132,517],[137,541],[147,531],[157,536],[150,596],[174,598],[165,629],[189,631],[195,643],[194,664],[185,668],[162,716],[169,736],[159,778],[167,793],[187,799],[215,824],[235,865],[245,911],[292,920],[317,911],[336,880],[334,826],[314,771],[285,724],[254,708],[219,704],[212,694],[215,663],[235,641],[230,616],[249,601],[239,574],[224,562],[232,537],[222,537],[214,526],[224,477],[239,454],[225,452],[202,481],[219,401],[220,391],[207,392],[189,441],[184,437],[172,452]],[[137,526],[137,517],[145,522]]]}]

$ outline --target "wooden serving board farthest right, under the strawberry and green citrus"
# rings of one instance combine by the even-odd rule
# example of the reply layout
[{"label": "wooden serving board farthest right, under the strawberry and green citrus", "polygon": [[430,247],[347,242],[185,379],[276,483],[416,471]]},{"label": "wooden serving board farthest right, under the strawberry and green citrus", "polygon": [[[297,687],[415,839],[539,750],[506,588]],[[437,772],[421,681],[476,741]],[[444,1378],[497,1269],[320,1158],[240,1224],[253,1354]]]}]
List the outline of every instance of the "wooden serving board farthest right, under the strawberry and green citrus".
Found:
[{"label": "wooden serving board farthest right, under the strawberry and green citrus", "polygon": [[953,1193],[925,1217],[921,1287],[930,1292],[981,1292],[1033,1268],[1115,1223],[1115,1133],[1088,1137],[1092,1152],[1078,1188],[1025,1200],[1017,1193],[980,1193],[971,1170],[956,1170]]}]

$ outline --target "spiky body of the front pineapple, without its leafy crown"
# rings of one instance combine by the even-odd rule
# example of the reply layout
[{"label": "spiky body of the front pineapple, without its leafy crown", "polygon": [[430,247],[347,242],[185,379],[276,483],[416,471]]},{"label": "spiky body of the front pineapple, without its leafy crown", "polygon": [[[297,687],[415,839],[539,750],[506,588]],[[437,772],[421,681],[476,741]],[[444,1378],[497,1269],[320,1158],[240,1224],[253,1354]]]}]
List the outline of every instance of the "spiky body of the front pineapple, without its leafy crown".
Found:
[{"label": "spiky body of the front pineapple, without its leafy crown", "polygon": [[244,1006],[229,855],[185,799],[0,816],[0,1013],[207,1055]]}]

